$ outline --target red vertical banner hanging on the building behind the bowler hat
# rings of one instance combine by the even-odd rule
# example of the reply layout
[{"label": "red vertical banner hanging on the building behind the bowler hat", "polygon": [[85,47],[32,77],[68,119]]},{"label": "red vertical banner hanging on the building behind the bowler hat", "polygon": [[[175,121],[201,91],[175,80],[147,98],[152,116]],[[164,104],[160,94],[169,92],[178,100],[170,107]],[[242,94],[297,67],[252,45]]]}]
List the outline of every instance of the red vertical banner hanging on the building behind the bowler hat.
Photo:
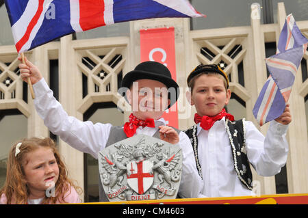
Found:
[{"label": "red vertical banner hanging on the building behind the bowler hat", "polygon": [[[175,66],[175,28],[156,28],[140,30],[140,60],[155,61],[164,64],[177,81]],[[172,105],[162,116],[169,126],[179,127],[177,103]]]}]

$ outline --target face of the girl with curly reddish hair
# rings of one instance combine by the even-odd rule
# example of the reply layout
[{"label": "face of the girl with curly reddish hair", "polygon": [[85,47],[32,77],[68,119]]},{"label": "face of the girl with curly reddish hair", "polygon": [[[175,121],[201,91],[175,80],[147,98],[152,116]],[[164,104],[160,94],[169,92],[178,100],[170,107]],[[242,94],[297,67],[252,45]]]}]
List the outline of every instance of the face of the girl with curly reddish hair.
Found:
[{"label": "face of the girl with curly reddish hair", "polygon": [[55,185],[59,178],[59,167],[51,148],[40,147],[25,154],[23,169],[30,196],[44,197],[50,184]]}]

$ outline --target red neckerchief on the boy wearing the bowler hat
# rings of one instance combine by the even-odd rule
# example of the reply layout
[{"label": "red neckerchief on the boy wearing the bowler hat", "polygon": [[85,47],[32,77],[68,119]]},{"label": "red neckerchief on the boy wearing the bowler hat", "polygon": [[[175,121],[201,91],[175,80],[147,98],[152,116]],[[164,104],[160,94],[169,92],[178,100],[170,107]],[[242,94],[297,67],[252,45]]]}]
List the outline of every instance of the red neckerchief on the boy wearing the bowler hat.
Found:
[{"label": "red neckerchief on the boy wearing the bowler hat", "polygon": [[132,137],[136,133],[138,126],[155,127],[155,123],[153,119],[140,120],[131,113],[129,115],[129,122],[125,122],[124,124],[124,133],[127,137]]}]

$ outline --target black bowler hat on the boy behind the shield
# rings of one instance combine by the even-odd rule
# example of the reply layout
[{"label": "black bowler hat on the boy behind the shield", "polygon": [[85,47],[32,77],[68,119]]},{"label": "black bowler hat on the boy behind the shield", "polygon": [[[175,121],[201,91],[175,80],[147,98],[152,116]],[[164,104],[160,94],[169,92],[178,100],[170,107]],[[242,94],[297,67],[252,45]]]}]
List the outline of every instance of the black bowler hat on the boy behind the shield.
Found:
[{"label": "black bowler hat on the boy behind the shield", "polygon": [[[170,105],[168,108],[177,102],[177,98],[179,98],[179,85],[177,85],[177,82],[171,78],[171,73],[164,64],[158,62],[142,62],[138,64],[134,70],[125,74],[121,87],[127,87],[129,89],[132,83],[138,79],[152,79],[159,81],[166,85],[167,90],[170,87],[173,87],[176,92],[175,99],[171,99],[170,93],[168,93],[168,98],[170,99]],[[126,96],[125,99],[127,100]]]}]

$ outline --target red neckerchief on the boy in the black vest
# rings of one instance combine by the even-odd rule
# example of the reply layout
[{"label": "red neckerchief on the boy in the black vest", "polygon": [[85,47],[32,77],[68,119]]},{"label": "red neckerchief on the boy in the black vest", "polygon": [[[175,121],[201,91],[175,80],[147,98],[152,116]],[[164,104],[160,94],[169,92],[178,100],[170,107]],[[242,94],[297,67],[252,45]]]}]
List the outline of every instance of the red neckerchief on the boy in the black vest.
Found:
[{"label": "red neckerchief on the boy in the black vest", "polygon": [[218,113],[218,115],[216,115],[214,117],[209,117],[207,115],[203,115],[201,117],[201,115],[198,115],[198,113],[196,113],[194,115],[194,122],[196,124],[201,122],[200,126],[204,130],[208,131],[211,128],[211,126],[214,125],[214,122],[216,122],[217,120],[221,120],[221,118],[223,118],[224,116],[226,116],[227,119],[234,121],[233,115],[231,115],[230,113],[226,113],[226,110],[222,109],[222,111],[220,111],[220,113]]}]

